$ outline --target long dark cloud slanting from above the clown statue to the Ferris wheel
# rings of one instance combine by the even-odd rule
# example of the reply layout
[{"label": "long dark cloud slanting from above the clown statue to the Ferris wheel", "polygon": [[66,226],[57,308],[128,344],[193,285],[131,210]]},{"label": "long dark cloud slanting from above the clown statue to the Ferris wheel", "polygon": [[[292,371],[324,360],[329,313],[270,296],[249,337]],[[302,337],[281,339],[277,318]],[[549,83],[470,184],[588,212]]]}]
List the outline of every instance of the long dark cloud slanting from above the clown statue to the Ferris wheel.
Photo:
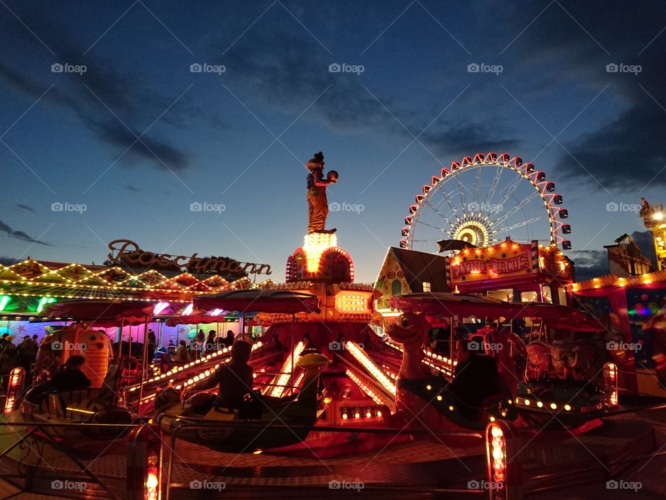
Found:
[{"label": "long dark cloud slanting from above the clown statue to the Ferris wheel", "polygon": [[[307,37],[307,33],[287,33],[273,26],[268,31],[253,31],[252,36],[241,38],[225,54],[225,81],[234,94],[251,89],[253,98],[293,115],[302,113],[328,89],[307,110],[304,119],[321,122],[336,133],[401,137],[404,145],[428,127],[418,140],[433,153],[446,155],[447,160],[470,151],[504,151],[519,143],[506,126],[501,126],[502,117],[496,118],[492,127],[475,123],[466,114],[455,119],[445,119],[444,116],[452,116],[445,114],[430,124],[441,108],[409,108],[402,99],[377,90],[363,74],[330,72],[332,57]],[[226,42],[212,44],[210,57],[225,48]],[[448,88],[438,99],[453,101],[463,89],[464,85]],[[239,96],[241,100],[245,98]]]}]

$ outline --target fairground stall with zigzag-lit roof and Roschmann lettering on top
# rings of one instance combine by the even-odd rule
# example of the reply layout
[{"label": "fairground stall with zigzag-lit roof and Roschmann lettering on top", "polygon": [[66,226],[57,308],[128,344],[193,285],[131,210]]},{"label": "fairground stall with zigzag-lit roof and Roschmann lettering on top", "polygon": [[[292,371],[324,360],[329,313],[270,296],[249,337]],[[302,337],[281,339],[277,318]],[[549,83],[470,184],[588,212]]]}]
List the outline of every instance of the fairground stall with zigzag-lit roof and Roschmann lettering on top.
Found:
[{"label": "fairground stall with zigzag-lit roof and Roschmann lettering on top", "polygon": [[[108,265],[31,258],[0,265],[0,334],[41,338],[50,326],[68,323],[66,317],[45,317],[43,311],[49,304],[71,299],[117,299],[153,303],[155,320],[149,328],[155,331],[158,341],[167,344],[169,340],[176,340],[178,343],[178,338],[196,333],[196,329],[192,332],[196,325],[169,327],[164,324],[164,318],[191,313],[192,299],[196,295],[251,288],[253,283],[248,274],[253,271],[270,273],[267,265],[239,263],[228,258],[197,258],[196,253],[187,257],[169,256],[142,251],[129,240],[115,240],[109,248]],[[235,331],[236,318],[225,317],[223,311],[219,315],[220,323]],[[107,333],[113,340],[119,340],[121,335],[123,338],[133,335],[135,341],[142,342],[143,328],[126,326],[123,332],[119,328],[108,328]]]}]

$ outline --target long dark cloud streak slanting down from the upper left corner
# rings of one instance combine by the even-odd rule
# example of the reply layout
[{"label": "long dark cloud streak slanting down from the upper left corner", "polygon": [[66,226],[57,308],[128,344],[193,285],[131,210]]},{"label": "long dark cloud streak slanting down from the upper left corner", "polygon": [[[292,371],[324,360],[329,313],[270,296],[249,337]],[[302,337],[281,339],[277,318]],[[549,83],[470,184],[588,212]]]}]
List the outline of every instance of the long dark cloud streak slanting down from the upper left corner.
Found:
[{"label": "long dark cloud streak slanting down from the upper left corner", "polygon": [[[19,9],[18,15],[33,31],[40,33],[40,38],[46,40],[46,44],[56,52],[52,62],[85,65],[87,71],[80,75],[51,73],[48,79],[42,77],[44,72],[37,71],[37,68],[43,60],[44,47],[35,45],[31,33],[22,26],[9,24],[5,42],[10,43],[7,38],[12,40],[12,46],[22,54],[21,59],[29,61],[31,66],[24,70],[22,62],[10,63],[8,58],[3,58],[0,60],[0,78],[35,100],[51,83],[56,83],[42,101],[74,113],[96,138],[117,151],[114,159],[134,144],[123,156],[123,165],[150,165],[158,170],[173,172],[191,167],[189,151],[158,137],[154,128],[142,136],[167,109],[169,111],[164,113],[160,122],[180,128],[186,126],[190,117],[203,114],[187,97],[178,99],[178,103],[171,107],[187,87],[170,90],[167,94],[142,78],[137,67],[130,74],[123,74],[119,69],[100,63],[101,58],[91,54],[82,56],[86,47],[76,45],[71,31],[65,33],[67,28],[59,31],[58,24],[44,19],[44,12],[27,9]],[[141,140],[137,141],[136,136],[141,136]]]}]

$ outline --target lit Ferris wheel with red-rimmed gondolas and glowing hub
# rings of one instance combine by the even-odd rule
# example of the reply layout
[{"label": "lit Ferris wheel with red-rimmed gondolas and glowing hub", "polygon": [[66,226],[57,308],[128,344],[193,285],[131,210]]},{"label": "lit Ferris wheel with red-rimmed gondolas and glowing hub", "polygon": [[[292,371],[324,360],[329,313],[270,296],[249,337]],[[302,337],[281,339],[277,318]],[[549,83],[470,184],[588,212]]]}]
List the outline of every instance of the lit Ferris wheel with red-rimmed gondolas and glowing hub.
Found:
[{"label": "lit Ferris wheel with red-rimmed gondolas and glowing hub", "polygon": [[435,252],[441,240],[462,240],[476,247],[504,241],[538,240],[571,248],[563,197],[545,172],[522,158],[477,153],[443,168],[423,186],[409,207],[400,247]]}]

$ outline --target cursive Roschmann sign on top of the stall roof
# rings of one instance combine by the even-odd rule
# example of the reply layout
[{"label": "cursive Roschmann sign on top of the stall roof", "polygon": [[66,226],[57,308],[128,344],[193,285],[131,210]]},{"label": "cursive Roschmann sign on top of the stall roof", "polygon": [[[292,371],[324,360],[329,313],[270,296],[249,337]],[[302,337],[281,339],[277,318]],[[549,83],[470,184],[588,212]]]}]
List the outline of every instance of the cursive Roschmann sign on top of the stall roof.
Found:
[{"label": "cursive Roschmann sign on top of the stall roof", "polygon": [[214,272],[234,276],[247,274],[271,274],[268,264],[241,263],[232,258],[174,256],[169,253],[153,253],[144,251],[132,240],[113,240],[109,243],[109,260],[114,263],[125,263],[130,267],[152,267],[157,269],[180,270],[198,272]]}]

